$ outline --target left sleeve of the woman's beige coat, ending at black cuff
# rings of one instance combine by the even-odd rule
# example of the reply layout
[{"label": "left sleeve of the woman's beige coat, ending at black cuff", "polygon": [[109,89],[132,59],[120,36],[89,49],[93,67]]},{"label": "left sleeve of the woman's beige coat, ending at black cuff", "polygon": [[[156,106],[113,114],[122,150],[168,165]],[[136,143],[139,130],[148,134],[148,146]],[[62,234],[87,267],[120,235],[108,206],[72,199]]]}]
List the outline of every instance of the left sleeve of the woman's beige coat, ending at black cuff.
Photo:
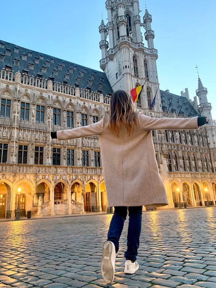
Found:
[{"label": "left sleeve of the woman's beige coat, ending at black cuff", "polygon": [[103,132],[103,119],[88,126],[77,127],[69,130],[57,131],[58,140],[69,140],[93,135],[100,135]]}]

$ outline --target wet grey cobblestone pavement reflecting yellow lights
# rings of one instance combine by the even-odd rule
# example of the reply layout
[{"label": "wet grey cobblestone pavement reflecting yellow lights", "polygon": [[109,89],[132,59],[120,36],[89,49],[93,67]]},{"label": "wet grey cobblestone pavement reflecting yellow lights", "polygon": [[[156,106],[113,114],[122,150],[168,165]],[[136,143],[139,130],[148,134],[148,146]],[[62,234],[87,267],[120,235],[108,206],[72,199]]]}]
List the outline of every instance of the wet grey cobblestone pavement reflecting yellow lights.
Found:
[{"label": "wet grey cobblestone pavement reflecting yellow lights", "polygon": [[216,287],[216,208],[143,212],[137,261],[125,274],[125,222],[114,282],[100,274],[112,215],[0,223],[0,287]]}]

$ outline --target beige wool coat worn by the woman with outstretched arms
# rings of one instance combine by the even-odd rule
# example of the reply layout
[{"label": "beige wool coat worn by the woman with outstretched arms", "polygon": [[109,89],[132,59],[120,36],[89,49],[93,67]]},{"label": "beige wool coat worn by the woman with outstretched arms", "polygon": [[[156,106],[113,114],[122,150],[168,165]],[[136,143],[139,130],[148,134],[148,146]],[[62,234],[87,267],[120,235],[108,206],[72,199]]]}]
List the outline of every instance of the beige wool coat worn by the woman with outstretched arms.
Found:
[{"label": "beige wool coat worn by the woman with outstretched arms", "polygon": [[168,205],[166,190],[158,171],[151,130],[198,129],[197,117],[152,118],[138,113],[139,125],[127,135],[121,125],[119,138],[109,127],[110,116],[88,126],[57,131],[58,140],[99,135],[101,159],[108,205],[146,206],[147,209]]}]

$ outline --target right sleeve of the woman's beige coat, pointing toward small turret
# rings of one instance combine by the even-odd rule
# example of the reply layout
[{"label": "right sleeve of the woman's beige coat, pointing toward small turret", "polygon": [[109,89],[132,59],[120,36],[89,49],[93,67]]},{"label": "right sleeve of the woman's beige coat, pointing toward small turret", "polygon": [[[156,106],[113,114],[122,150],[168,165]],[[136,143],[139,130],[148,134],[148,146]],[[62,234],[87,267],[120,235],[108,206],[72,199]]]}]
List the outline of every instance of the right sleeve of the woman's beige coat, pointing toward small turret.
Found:
[{"label": "right sleeve of the woman's beige coat, pointing toward small turret", "polygon": [[140,113],[139,126],[144,130],[189,130],[198,129],[198,116],[193,118],[152,118]]}]

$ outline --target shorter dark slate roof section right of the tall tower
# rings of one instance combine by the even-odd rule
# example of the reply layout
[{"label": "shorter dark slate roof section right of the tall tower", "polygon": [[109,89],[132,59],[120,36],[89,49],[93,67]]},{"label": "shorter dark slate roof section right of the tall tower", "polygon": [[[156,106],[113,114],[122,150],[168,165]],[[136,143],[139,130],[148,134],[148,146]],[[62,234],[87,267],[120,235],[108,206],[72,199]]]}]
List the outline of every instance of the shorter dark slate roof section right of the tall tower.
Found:
[{"label": "shorter dark slate roof section right of the tall tower", "polygon": [[[197,111],[194,109],[194,106],[191,105],[191,103],[188,101],[186,97],[172,94],[168,90],[166,91],[160,90],[160,98],[161,98],[162,110],[164,111],[167,111],[169,108],[168,112],[176,112],[178,114],[181,109],[181,112],[179,115],[184,115],[186,117],[188,117],[189,114],[190,114],[190,117],[199,116],[199,113],[197,113]],[[171,100],[172,100],[172,104],[170,105]],[[184,104],[182,106],[183,101],[184,101]]]}]

